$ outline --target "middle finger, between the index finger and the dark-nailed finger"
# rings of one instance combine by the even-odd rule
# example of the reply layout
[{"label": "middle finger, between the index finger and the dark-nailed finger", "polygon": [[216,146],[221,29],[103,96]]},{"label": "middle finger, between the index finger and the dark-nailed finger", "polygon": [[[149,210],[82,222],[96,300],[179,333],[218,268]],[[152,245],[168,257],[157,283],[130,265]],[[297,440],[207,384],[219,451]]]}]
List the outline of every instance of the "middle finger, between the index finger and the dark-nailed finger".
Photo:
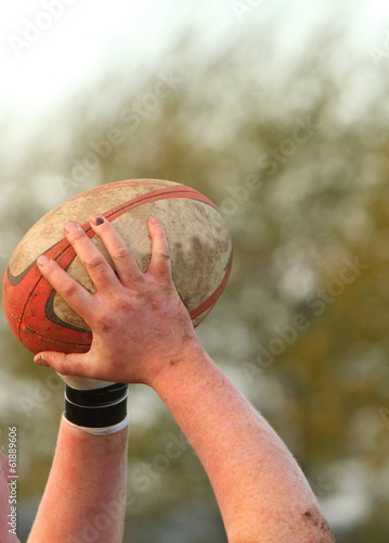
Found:
[{"label": "middle finger, between the index finger and the dark-nailed finger", "polygon": [[67,223],[65,233],[98,291],[117,282],[113,268],[80,226]]}]

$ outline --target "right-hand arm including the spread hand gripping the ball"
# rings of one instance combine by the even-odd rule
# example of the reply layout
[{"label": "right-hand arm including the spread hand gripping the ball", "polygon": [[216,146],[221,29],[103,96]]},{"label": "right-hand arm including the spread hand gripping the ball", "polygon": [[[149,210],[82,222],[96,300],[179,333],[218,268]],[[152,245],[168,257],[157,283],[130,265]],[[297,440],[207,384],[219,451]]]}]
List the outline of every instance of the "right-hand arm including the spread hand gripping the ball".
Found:
[{"label": "right-hand arm including the spread hand gripping the ball", "polygon": [[62,374],[153,387],[208,472],[230,543],[332,542],[291,454],[198,343],[172,283],[161,224],[150,222],[153,251],[145,274],[108,222],[91,226],[117,276],[80,228],[67,236],[95,294],[55,263],[40,261],[44,277],[93,330],[91,350],[41,353],[36,362]]}]

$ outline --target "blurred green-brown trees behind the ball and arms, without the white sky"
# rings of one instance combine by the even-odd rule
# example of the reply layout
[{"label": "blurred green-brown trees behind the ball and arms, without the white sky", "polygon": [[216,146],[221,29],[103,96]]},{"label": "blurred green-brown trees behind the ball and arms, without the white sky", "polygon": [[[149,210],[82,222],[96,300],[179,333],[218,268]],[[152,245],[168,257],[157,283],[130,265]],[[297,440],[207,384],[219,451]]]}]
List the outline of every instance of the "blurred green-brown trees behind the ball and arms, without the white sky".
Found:
[{"label": "blurred green-brown trees behind the ball and arms, without the white sky", "polygon": [[[334,21],[296,56],[273,20],[222,51],[198,50],[189,33],[148,73],[115,64],[36,129],[22,160],[2,157],[2,268],[42,214],[92,186],[156,177],[205,192],[229,222],[235,262],[198,334],[287,442],[337,541],[378,543],[389,536],[388,146],[377,105],[388,84]],[[355,96],[361,72],[371,86]],[[62,388],[4,319],[1,329],[3,416],[21,429],[29,504],[44,487]],[[128,536],[224,541],[203,468],[158,399],[133,387],[130,412]]]}]

